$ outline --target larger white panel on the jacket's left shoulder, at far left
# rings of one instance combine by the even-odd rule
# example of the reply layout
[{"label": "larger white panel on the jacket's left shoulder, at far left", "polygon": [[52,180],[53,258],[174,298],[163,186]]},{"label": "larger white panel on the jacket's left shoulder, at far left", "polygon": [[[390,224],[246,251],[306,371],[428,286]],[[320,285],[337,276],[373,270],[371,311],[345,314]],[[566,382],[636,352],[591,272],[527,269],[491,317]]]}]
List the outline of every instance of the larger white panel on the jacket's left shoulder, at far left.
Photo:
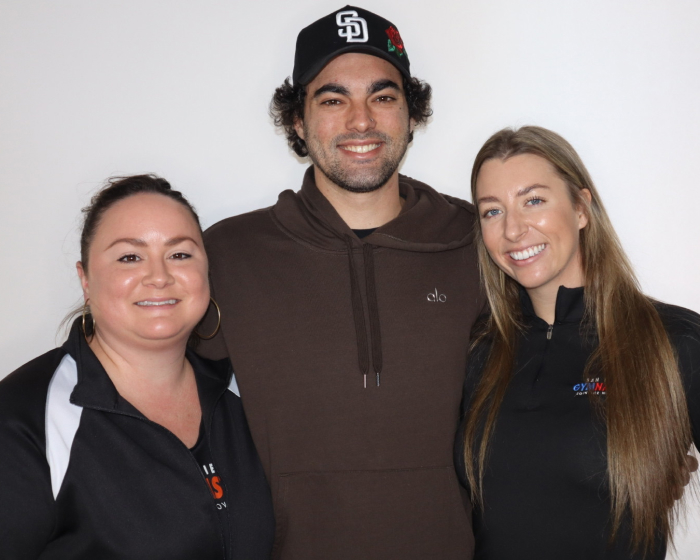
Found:
[{"label": "larger white panel on the jacket's left shoulder, at far left", "polygon": [[71,404],[70,395],[78,383],[75,360],[66,354],[49,383],[46,397],[46,460],[51,471],[54,499],[68,470],[70,450],[80,425],[83,407]]}]

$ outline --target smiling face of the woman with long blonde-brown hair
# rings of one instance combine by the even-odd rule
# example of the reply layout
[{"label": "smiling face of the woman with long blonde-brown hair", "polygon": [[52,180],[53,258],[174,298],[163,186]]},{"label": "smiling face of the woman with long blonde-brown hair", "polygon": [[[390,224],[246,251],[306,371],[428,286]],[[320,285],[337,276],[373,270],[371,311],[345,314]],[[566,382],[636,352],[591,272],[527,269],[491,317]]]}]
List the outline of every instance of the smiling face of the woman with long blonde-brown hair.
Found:
[{"label": "smiling face of the woman with long blonde-brown hair", "polygon": [[[590,200],[590,191],[583,189]],[[476,182],[484,244],[498,267],[531,295],[582,286],[579,230],[588,217],[544,158],[490,159]]]}]

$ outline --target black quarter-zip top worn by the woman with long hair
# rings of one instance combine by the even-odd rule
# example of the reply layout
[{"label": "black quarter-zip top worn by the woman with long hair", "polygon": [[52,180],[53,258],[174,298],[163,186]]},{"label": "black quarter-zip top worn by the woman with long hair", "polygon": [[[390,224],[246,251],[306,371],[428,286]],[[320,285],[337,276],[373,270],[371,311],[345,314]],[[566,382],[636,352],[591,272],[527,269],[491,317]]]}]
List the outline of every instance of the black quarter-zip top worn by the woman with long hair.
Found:
[{"label": "black quarter-zip top worn by the woman with long hair", "polygon": [[[474,511],[475,559],[639,559],[630,552],[627,525],[613,545],[608,544],[606,432],[587,396],[590,391],[604,393],[605,380],[583,378],[597,344],[595,332],[582,336],[583,288],[559,289],[551,326],[535,315],[524,290],[521,300],[526,329],[489,444],[484,510]],[[665,304],[657,309],[678,355],[697,445],[700,316]],[[465,406],[488,350],[488,343],[480,344],[470,355]],[[462,438],[460,430],[456,462],[466,486]],[[659,543],[646,560],[661,560],[665,553],[664,543]]]}]

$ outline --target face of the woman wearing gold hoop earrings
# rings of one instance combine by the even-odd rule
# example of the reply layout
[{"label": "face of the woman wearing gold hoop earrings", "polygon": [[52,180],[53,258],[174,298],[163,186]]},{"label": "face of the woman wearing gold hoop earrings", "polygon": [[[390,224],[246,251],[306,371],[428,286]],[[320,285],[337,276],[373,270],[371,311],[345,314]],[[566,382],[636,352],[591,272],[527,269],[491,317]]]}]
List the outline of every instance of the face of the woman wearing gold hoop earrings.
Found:
[{"label": "face of the woman wearing gold hoop earrings", "polygon": [[189,210],[160,194],[120,200],[105,211],[78,263],[85,298],[105,341],[184,344],[209,304],[208,263]]}]

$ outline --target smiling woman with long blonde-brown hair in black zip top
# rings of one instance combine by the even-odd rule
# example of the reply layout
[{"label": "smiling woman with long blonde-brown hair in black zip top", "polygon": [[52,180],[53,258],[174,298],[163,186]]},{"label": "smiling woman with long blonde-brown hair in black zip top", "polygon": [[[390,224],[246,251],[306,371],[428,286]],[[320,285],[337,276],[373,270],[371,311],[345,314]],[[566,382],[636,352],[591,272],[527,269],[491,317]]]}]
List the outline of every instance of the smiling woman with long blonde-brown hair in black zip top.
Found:
[{"label": "smiling woman with long blonde-brown hair in black zip top", "polygon": [[496,133],[471,188],[491,308],[457,451],[476,558],[664,558],[700,441],[700,316],[641,292],[557,134]]}]

